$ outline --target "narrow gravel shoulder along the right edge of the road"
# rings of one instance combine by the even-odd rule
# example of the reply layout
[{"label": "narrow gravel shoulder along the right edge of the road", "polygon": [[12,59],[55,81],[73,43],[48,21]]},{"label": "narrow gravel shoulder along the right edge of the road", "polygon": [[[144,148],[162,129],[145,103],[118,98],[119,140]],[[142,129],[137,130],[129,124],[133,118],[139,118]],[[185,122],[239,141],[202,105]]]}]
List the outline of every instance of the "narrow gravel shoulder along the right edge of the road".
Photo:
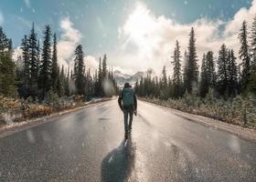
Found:
[{"label": "narrow gravel shoulder along the right edge of the road", "polygon": [[192,121],[204,126],[212,126],[212,127],[215,127],[216,129],[229,132],[230,134],[240,136],[243,139],[253,140],[254,142],[256,141],[256,131],[253,129],[242,127],[242,126],[235,126],[235,125],[225,123],[223,121],[219,121],[217,119],[213,119],[206,116],[199,116],[199,115],[186,113],[180,110],[176,110],[172,107],[157,105],[155,103],[145,101],[145,100],[140,100],[140,101],[144,101],[154,106],[159,106],[168,110],[172,110],[176,116],[181,116],[189,121]]}]

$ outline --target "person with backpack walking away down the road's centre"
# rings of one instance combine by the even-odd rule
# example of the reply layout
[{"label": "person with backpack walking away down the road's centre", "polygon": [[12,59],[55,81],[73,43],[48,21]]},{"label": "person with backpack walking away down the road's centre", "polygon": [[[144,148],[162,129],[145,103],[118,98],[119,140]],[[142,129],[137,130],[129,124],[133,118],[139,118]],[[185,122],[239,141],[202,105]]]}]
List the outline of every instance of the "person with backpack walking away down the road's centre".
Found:
[{"label": "person with backpack walking away down the road's centre", "polygon": [[132,86],[129,83],[124,84],[123,90],[118,98],[118,104],[123,111],[125,131],[124,136],[127,139],[128,132],[131,132],[132,130],[133,113],[134,115],[137,115],[137,98],[133,92]]}]

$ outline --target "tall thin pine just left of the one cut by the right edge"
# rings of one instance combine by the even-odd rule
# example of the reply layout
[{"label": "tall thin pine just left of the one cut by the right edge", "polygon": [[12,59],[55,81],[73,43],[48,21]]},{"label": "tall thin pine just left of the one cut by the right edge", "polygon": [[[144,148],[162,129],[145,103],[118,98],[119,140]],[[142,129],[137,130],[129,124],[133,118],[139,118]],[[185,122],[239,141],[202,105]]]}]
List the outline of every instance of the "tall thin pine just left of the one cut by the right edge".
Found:
[{"label": "tall thin pine just left of the one cut by the right edge", "polygon": [[249,76],[250,76],[250,55],[249,55],[249,45],[248,45],[248,37],[247,37],[247,23],[243,21],[242,26],[240,28],[240,59],[242,61],[242,76],[241,76],[241,86],[243,93],[246,92],[247,86],[249,84]]}]

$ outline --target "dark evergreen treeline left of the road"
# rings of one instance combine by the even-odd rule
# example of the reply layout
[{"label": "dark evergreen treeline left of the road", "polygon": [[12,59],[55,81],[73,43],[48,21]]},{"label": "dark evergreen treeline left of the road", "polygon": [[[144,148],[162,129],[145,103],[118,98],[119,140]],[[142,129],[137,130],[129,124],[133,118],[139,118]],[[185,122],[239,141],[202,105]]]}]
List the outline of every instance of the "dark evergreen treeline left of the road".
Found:
[{"label": "dark evergreen treeline left of the road", "polygon": [[14,60],[12,40],[0,27],[0,95],[40,101],[48,95],[85,98],[116,95],[118,87],[106,55],[102,63],[100,57],[98,70],[91,73],[84,63],[82,45],[78,45],[74,50],[74,66],[65,68],[58,59],[57,35],[52,35],[49,25],[43,35],[41,46],[33,23],[29,35],[22,39],[22,55]]}]

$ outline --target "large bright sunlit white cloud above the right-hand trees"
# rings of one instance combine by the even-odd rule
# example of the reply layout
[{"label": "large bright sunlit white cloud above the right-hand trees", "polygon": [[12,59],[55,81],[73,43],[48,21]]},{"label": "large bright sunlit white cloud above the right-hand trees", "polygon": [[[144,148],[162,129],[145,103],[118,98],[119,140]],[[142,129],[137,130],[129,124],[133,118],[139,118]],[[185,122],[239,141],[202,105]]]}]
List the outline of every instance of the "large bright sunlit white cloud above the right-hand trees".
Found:
[{"label": "large bright sunlit white cloud above the right-hand trees", "polygon": [[[131,68],[133,72],[146,70],[147,67],[161,73],[163,66],[172,72],[171,55],[176,39],[181,51],[187,49],[189,33],[193,26],[196,33],[197,56],[200,60],[203,53],[212,50],[217,56],[223,43],[238,53],[240,44],[237,38],[241,23],[246,19],[250,24],[256,12],[256,0],[249,9],[241,8],[228,22],[221,19],[201,17],[190,24],[180,24],[165,15],[157,16],[146,5],[135,4],[133,13],[128,16],[123,26],[119,27],[119,45],[110,56],[115,66]],[[200,65],[200,61],[198,62]]]}]

